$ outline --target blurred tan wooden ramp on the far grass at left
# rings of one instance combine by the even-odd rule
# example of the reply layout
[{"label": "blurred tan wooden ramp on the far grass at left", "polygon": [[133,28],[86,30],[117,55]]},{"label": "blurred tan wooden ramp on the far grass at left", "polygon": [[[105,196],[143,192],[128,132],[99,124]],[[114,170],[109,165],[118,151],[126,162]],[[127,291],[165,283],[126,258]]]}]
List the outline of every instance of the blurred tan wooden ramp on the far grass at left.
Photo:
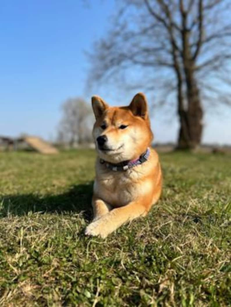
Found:
[{"label": "blurred tan wooden ramp on the far grass at left", "polygon": [[59,152],[54,146],[44,141],[42,138],[35,137],[35,136],[25,136],[22,139],[31,148],[38,151],[39,153],[55,154]]}]

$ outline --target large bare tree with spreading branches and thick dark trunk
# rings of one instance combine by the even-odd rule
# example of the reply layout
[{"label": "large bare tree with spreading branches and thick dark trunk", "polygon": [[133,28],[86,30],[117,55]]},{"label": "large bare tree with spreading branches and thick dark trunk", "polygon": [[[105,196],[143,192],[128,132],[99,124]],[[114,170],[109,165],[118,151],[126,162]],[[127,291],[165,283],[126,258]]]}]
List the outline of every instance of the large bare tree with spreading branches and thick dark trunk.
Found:
[{"label": "large bare tree with spreading branches and thick dark trunk", "polygon": [[195,148],[201,142],[203,109],[231,104],[231,2],[117,0],[117,4],[112,29],[94,44],[88,84],[122,81],[126,89],[142,86],[156,91],[159,103],[172,106],[175,100],[178,148]]}]

